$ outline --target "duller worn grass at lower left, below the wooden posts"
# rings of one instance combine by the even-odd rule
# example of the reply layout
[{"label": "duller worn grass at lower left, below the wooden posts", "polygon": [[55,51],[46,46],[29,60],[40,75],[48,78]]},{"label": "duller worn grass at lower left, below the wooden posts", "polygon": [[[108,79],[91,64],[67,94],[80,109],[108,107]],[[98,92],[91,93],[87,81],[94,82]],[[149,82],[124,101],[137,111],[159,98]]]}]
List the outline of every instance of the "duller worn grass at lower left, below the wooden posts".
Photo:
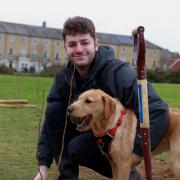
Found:
[{"label": "duller worn grass at lower left, below the wooden posts", "polygon": [[0,180],[33,179],[37,112],[0,109]]}]

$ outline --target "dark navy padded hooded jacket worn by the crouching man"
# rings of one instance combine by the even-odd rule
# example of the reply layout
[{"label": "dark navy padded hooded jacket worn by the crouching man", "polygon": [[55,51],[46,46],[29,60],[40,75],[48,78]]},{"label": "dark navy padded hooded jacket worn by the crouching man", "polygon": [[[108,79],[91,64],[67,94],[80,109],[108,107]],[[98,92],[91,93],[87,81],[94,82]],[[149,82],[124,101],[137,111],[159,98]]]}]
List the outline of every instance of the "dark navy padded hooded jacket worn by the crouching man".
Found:
[{"label": "dark navy padded hooded jacket worn by the crouching man", "polygon": [[[48,96],[46,117],[38,145],[38,159],[40,164],[50,166],[53,158],[57,158],[60,151],[60,141],[65,122],[66,108],[70,101],[88,89],[100,88],[118,98],[121,103],[134,109],[138,117],[138,94],[135,71],[126,63],[116,60],[114,52],[109,47],[101,46],[96,52],[90,73],[80,77],[75,71],[70,92],[71,78],[74,65],[68,62],[66,68],[58,72]],[[167,128],[168,107],[156,94],[152,85],[148,83],[149,112],[152,138],[152,149],[157,146]],[[76,136],[74,125],[70,122],[66,132],[66,142]],[[139,137],[135,140],[135,153],[142,155]]]}]

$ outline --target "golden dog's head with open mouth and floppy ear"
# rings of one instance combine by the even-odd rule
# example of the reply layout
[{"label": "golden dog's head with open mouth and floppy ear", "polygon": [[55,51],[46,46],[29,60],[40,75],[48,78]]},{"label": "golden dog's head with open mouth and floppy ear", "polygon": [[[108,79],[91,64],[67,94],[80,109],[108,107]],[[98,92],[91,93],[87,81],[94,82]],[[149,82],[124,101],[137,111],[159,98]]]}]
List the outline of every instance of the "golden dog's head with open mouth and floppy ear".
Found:
[{"label": "golden dog's head with open mouth and floppy ear", "polygon": [[71,121],[81,132],[104,131],[116,108],[116,100],[99,89],[82,93],[78,100],[68,107]]}]

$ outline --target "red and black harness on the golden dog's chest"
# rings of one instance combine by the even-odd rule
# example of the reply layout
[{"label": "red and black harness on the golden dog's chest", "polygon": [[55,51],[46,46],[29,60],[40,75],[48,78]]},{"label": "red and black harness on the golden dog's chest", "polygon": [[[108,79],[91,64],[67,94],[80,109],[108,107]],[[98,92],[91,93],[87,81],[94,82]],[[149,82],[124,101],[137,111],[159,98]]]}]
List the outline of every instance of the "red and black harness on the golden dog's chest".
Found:
[{"label": "red and black harness on the golden dog's chest", "polygon": [[123,120],[123,117],[124,117],[125,114],[126,114],[125,111],[121,111],[119,119],[118,119],[115,127],[113,127],[112,129],[106,130],[101,134],[98,134],[98,133],[94,132],[94,136],[96,138],[96,142],[97,142],[100,150],[105,155],[107,155],[109,158],[110,158],[109,151],[110,151],[110,148],[111,148],[112,139],[116,134],[117,128],[122,124],[122,120]]}]

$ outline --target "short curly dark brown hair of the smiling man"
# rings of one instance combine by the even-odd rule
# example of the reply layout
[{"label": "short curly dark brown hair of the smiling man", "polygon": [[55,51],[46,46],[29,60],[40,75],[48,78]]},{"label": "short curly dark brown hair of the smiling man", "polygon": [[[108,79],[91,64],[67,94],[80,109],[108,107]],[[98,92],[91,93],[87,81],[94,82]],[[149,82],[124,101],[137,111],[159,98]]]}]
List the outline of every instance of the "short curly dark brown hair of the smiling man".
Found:
[{"label": "short curly dark brown hair of the smiling man", "polygon": [[95,26],[93,22],[86,18],[75,16],[72,18],[68,18],[62,30],[62,37],[65,41],[66,35],[76,35],[76,34],[90,34],[92,38],[95,39]]}]

